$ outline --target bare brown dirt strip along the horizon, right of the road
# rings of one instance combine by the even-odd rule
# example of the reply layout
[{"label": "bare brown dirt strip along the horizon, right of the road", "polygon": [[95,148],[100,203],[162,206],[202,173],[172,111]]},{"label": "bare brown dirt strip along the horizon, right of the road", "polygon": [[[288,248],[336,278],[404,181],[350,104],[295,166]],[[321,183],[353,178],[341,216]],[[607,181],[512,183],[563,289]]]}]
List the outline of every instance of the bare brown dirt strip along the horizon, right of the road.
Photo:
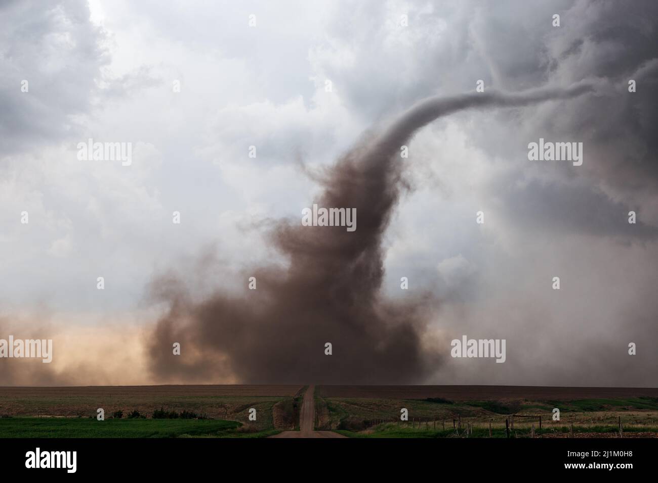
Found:
[{"label": "bare brown dirt strip along the horizon, right of the road", "polygon": [[597,398],[658,398],[658,388],[569,388],[550,386],[318,386],[322,398],[468,400],[578,400]]}]

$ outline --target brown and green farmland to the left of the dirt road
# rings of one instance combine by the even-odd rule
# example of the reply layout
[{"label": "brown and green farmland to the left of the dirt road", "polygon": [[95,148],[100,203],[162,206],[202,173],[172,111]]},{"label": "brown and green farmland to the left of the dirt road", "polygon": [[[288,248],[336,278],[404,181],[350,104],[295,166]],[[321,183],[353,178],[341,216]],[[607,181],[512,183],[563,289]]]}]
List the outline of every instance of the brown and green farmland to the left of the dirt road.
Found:
[{"label": "brown and green farmland to the left of the dirt road", "polygon": [[[299,425],[303,386],[89,386],[0,388],[0,437],[269,436]],[[103,426],[94,425],[97,409]],[[256,421],[249,421],[249,409]],[[163,409],[195,419],[153,419]],[[113,417],[122,411],[121,418]],[[139,417],[127,419],[130,413]],[[199,419],[196,419],[196,418]]]}]

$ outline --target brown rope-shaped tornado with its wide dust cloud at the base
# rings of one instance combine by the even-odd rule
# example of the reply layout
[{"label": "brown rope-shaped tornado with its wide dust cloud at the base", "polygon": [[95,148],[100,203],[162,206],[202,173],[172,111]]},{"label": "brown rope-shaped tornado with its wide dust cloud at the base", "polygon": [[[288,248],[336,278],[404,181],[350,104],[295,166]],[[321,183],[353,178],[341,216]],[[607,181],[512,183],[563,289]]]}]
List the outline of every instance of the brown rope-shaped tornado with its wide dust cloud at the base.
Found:
[{"label": "brown rope-shaped tornado with its wide dust cloud at the base", "polygon": [[[379,135],[368,133],[330,168],[318,206],[356,208],[357,229],[281,220],[270,241],[286,269],[257,267],[256,290],[217,292],[194,302],[176,279],[155,281],[170,311],[149,348],[159,380],[229,378],[241,383],[413,384],[436,371],[444,347],[423,343],[432,308],[427,294],[404,302],[380,293],[382,238],[405,187],[399,152],[432,120],[467,108],[512,107],[569,99],[592,91],[538,89],[518,95],[432,97]],[[311,204],[311,203],[309,203]],[[245,277],[245,284],[246,284]],[[180,342],[181,356],[172,355]],[[324,344],[332,344],[332,355]]]}]

